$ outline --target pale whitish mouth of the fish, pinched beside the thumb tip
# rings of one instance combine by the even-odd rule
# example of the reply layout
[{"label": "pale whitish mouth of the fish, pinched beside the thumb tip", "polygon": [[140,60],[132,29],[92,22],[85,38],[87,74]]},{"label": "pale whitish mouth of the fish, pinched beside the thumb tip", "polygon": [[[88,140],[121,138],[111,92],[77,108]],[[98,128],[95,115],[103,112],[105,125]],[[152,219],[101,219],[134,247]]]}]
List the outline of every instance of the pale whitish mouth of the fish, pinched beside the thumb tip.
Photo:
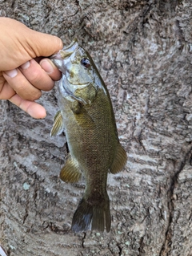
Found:
[{"label": "pale whitish mouth of the fish, pinched beside the thumb tip", "polygon": [[51,55],[50,59],[51,60],[66,59],[66,58],[70,57],[70,55],[72,55],[74,53],[74,51],[76,51],[77,48],[78,48],[78,40],[74,39],[68,47],[63,47],[62,50],[58,51],[58,53],[56,53],[55,55]]}]

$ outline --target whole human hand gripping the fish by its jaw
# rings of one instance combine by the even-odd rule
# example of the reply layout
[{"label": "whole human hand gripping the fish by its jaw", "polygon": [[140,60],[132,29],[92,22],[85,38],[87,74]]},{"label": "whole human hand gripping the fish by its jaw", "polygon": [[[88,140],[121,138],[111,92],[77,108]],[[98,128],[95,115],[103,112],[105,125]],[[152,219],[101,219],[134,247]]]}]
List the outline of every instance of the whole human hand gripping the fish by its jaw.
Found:
[{"label": "whole human hand gripping the fish by its jaw", "polygon": [[30,116],[44,118],[45,108],[34,100],[41,90],[50,91],[61,73],[50,59],[37,57],[53,55],[62,49],[62,41],[11,18],[0,18],[0,30],[0,100],[10,100]]}]

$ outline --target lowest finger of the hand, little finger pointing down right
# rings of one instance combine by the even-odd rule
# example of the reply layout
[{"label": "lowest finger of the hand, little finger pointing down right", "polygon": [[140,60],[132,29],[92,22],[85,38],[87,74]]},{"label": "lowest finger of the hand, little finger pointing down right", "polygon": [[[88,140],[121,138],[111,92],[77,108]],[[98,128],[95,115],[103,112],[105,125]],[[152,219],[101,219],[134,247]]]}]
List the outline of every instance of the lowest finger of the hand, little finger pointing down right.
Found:
[{"label": "lowest finger of the hand, little finger pointing down right", "polygon": [[34,101],[23,100],[19,95],[16,94],[10,98],[10,102],[34,118],[40,119],[46,117],[46,109]]}]

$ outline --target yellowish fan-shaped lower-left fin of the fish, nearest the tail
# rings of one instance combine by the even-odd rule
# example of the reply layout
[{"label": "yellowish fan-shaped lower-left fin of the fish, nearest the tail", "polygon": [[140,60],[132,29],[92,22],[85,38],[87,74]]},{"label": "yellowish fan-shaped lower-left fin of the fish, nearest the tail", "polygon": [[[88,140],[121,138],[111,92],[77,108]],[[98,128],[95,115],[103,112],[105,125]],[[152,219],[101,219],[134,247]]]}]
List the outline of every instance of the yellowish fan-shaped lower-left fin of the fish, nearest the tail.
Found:
[{"label": "yellowish fan-shaped lower-left fin of the fish, nearest the tail", "polygon": [[66,165],[62,167],[60,178],[62,181],[75,183],[78,182],[81,176],[82,173],[78,167],[78,163],[70,156],[66,161]]}]

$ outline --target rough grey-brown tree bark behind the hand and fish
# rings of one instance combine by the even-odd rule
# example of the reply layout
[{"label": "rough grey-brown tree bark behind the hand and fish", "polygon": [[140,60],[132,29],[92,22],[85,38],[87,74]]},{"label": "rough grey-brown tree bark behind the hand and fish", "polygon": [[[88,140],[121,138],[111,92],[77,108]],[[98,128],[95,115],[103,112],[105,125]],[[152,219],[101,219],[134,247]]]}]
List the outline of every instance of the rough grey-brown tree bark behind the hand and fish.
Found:
[{"label": "rough grey-brown tree bark behind the hand and fish", "polygon": [[110,91],[126,169],[109,175],[109,234],[74,234],[85,182],[58,174],[64,136],[50,137],[56,90],[45,120],[0,104],[0,243],[10,256],[192,255],[191,0],[3,1],[0,15],[74,37]]}]

